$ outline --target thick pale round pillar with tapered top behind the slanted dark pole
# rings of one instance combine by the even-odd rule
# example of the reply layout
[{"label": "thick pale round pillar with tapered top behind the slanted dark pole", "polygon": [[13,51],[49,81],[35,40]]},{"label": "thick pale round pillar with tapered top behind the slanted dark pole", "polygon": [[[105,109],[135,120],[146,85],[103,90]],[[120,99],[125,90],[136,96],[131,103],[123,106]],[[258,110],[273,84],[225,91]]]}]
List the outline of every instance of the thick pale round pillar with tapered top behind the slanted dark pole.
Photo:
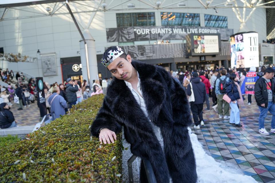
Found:
[{"label": "thick pale round pillar with tapered top behind the slanted dark pole", "polygon": [[[83,36],[87,43],[87,54],[89,60],[89,72],[90,72],[90,84],[93,84],[93,80],[97,79],[98,69],[97,69],[97,51],[95,49],[95,39],[92,37],[88,29],[84,30]],[[86,53],[84,41],[80,40],[80,59],[82,64],[82,76],[83,79],[88,81],[88,71],[86,63]]]}]

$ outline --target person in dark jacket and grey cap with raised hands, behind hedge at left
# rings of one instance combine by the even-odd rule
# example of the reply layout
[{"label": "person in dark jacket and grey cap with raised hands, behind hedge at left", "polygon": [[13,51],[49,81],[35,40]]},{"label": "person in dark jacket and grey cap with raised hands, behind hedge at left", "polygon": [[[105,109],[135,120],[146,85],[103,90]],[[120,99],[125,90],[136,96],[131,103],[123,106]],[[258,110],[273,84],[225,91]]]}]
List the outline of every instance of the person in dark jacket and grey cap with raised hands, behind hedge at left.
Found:
[{"label": "person in dark jacket and grey cap with raised hands, behind hedge at left", "polygon": [[76,92],[78,91],[78,86],[77,84],[74,85],[74,81],[72,81],[71,78],[67,79],[66,84],[66,97],[68,100],[68,103],[70,104],[70,108],[72,108],[72,105],[76,104],[77,97],[76,97]]}]

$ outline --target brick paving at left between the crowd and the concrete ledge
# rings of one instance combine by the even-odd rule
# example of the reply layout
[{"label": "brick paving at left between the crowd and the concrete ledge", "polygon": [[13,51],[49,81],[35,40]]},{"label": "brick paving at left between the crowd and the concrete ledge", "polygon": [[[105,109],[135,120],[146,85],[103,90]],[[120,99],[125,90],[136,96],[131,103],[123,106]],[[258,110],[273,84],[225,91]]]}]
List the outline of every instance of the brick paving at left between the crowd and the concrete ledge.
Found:
[{"label": "brick paving at left between the crowd and the concrete ledge", "polygon": [[30,107],[23,108],[23,110],[18,111],[18,108],[18,104],[13,104],[10,109],[18,126],[36,125],[39,122],[40,112],[37,101],[34,103],[30,102]]}]

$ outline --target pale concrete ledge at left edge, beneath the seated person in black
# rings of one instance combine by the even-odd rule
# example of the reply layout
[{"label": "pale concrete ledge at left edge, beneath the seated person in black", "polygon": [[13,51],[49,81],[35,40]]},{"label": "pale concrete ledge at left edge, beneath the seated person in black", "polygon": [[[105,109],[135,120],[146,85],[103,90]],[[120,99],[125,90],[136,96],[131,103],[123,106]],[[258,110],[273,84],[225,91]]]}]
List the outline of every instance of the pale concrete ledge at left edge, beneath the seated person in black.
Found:
[{"label": "pale concrete ledge at left edge, beneath the seated person in black", "polygon": [[35,125],[32,126],[17,126],[12,128],[0,129],[0,136],[4,135],[22,135],[32,133]]}]

